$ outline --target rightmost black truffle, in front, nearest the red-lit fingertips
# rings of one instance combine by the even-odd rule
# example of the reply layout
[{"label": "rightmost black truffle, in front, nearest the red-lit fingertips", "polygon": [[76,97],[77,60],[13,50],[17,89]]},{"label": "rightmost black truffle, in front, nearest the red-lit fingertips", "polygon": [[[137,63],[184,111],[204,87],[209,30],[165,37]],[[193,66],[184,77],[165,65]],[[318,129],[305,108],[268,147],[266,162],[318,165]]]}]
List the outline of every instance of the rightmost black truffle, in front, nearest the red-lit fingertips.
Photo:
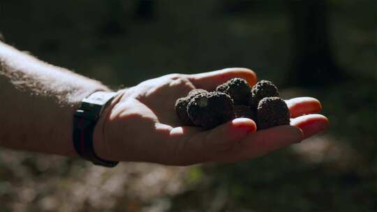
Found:
[{"label": "rightmost black truffle, in front, nearest the red-lit fingertips", "polygon": [[258,130],[288,124],[290,124],[290,112],[283,99],[266,97],[260,100],[257,111]]}]

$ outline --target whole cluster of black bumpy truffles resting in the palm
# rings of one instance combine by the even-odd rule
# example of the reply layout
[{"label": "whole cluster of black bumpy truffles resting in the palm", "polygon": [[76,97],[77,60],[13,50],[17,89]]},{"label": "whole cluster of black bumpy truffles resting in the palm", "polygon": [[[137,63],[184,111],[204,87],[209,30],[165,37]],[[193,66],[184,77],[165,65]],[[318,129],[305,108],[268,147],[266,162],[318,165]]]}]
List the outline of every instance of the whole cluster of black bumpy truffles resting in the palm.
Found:
[{"label": "whole cluster of black bumpy truffles resting in the palm", "polygon": [[184,125],[207,129],[235,118],[253,119],[258,130],[290,123],[285,101],[279,98],[277,87],[267,80],[252,88],[245,79],[233,78],[217,86],[216,91],[193,89],[177,100],[175,111]]}]

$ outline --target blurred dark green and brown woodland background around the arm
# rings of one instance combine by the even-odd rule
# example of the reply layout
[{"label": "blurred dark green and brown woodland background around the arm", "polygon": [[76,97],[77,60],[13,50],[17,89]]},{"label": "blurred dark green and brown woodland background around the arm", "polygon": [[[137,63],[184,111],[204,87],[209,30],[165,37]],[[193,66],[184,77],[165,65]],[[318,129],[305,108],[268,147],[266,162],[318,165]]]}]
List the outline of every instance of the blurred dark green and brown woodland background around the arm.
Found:
[{"label": "blurred dark green and brown woodland background around the arm", "polygon": [[0,1],[6,43],[114,89],[247,67],[327,132],[228,165],[114,169],[0,149],[0,211],[377,211],[377,1]]}]

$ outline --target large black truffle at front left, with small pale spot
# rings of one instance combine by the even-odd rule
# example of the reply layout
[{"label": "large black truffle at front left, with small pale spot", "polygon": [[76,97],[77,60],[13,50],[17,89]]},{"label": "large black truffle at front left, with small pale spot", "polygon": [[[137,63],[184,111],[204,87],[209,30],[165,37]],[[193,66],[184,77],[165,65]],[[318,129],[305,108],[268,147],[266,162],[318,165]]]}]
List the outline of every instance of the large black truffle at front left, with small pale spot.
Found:
[{"label": "large black truffle at front left, with small pale spot", "polygon": [[187,113],[195,126],[214,128],[233,118],[233,100],[226,93],[199,93],[191,98]]}]

